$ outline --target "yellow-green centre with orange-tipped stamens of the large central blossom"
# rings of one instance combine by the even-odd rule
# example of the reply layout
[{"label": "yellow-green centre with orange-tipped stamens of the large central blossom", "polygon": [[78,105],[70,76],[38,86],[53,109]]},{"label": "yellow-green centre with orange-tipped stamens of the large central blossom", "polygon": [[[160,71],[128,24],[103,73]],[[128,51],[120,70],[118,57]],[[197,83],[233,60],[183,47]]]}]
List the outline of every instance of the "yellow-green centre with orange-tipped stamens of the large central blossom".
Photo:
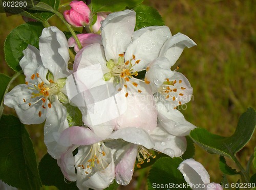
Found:
[{"label": "yellow-green centre with orange-tipped stamens of the large central blossom", "polygon": [[[124,52],[125,53],[125,52]],[[110,72],[104,74],[104,80],[108,81],[111,78],[113,79],[113,83],[115,86],[118,84],[123,85],[127,89],[127,82],[130,82],[130,79],[133,76],[138,75],[138,71],[134,71],[133,67],[136,64],[140,63],[140,60],[136,60],[135,56],[133,55],[133,58],[131,60],[125,61],[124,59],[124,53],[119,54],[118,62],[114,62],[114,60],[110,60],[106,62],[106,67],[110,69]],[[135,60],[135,63],[133,64],[132,61]],[[135,82],[131,82],[133,86],[138,87],[138,84]],[[119,88],[118,91],[121,91],[122,89]],[[138,89],[138,92],[141,93],[141,90]],[[126,90],[125,97],[127,97],[129,93]]]}]

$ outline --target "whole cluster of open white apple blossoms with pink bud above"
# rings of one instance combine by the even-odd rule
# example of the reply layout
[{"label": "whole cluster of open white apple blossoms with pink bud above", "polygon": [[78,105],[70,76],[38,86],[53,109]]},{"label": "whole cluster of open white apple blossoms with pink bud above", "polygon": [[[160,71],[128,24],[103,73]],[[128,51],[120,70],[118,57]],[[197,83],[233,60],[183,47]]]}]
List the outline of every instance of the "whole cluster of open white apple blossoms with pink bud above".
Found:
[{"label": "whole cluster of open white apple blossoms with pink bud above", "polygon": [[[90,9],[80,4],[73,1],[64,12],[75,26],[90,22]],[[24,124],[45,121],[48,153],[79,189],[104,189],[113,180],[129,184],[135,165],[141,168],[155,152],[182,156],[185,136],[195,128],[176,109],[190,101],[193,89],[178,68],[170,68],[196,43],[181,33],[172,36],[167,26],[134,31],[133,10],[104,18],[101,35],[78,35],[82,49],[55,26],[44,29],[39,50],[29,45],[20,60],[26,83],[4,99]],[[70,70],[71,47],[76,56]],[[68,106],[79,108],[80,126],[72,125]]]}]

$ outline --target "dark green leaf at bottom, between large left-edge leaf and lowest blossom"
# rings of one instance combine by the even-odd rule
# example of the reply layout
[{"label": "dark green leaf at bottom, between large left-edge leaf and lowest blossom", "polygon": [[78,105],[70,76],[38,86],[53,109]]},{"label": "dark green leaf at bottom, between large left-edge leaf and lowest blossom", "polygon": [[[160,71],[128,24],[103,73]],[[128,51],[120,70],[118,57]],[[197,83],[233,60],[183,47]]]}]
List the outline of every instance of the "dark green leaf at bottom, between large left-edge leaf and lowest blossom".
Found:
[{"label": "dark green leaf at bottom, between large left-edge leaf and lowest blossom", "polygon": [[58,189],[77,190],[76,182],[66,181],[57,160],[46,154],[39,163],[39,174],[43,185],[54,185]]}]

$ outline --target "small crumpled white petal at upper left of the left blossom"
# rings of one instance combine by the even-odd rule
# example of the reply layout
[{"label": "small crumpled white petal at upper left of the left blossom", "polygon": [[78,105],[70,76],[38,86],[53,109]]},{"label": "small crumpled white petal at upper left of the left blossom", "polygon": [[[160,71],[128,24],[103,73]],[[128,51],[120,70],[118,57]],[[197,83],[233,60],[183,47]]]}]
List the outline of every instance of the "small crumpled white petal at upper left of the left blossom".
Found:
[{"label": "small crumpled white petal at upper left of the left blossom", "polygon": [[26,76],[26,81],[31,83],[31,75],[36,75],[38,67],[42,65],[40,53],[39,50],[32,45],[28,45],[23,53],[24,57],[22,60],[20,60],[19,65],[22,67],[22,70]]}]

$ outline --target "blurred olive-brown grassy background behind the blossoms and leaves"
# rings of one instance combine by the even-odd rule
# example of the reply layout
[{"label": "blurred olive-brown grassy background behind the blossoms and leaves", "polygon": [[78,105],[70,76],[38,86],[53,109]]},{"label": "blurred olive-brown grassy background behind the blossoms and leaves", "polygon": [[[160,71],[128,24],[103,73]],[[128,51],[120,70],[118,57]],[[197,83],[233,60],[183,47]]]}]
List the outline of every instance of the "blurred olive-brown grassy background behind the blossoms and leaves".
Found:
[{"label": "blurred olive-brown grassy background behind the blossoms and leaves", "polygon": [[[256,3],[254,0],[145,0],[145,5],[156,8],[170,28],[172,34],[181,32],[193,39],[198,46],[184,49],[176,65],[194,88],[193,100],[183,106],[181,112],[194,125],[208,131],[231,135],[239,116],[247,107],[256,107]],[[0,14],[0,71],[9,76],[4,59],[4,41],[12,29],[24,23],[20,16]],[[57,18],[50,20],[57,25]],[[58,23],[58,24],[56,24]],[[175,65],[175,66],[176,66]],[[18,78],[17,83],[23,78]],[[5,114],[15,114],[5,107]],[[43,125],[26,126],[37,154],[38,162],[47,152],[44,145]],[[255,147],[255,134],[251,141],[238,153],[245,167]],[[220,182],[219,156],[209,154],[196,146],[195,159],[206,168],[212,182]],[[230,160],[230,166],[236,168]],[[148,169],[134,174],[130,185],[120,189],[146,189]],[[255,172],[255,170],[254,170]],[[238,176],[228,178],[236,182]],[[44,187],[44,189],[54,189]]]}]

